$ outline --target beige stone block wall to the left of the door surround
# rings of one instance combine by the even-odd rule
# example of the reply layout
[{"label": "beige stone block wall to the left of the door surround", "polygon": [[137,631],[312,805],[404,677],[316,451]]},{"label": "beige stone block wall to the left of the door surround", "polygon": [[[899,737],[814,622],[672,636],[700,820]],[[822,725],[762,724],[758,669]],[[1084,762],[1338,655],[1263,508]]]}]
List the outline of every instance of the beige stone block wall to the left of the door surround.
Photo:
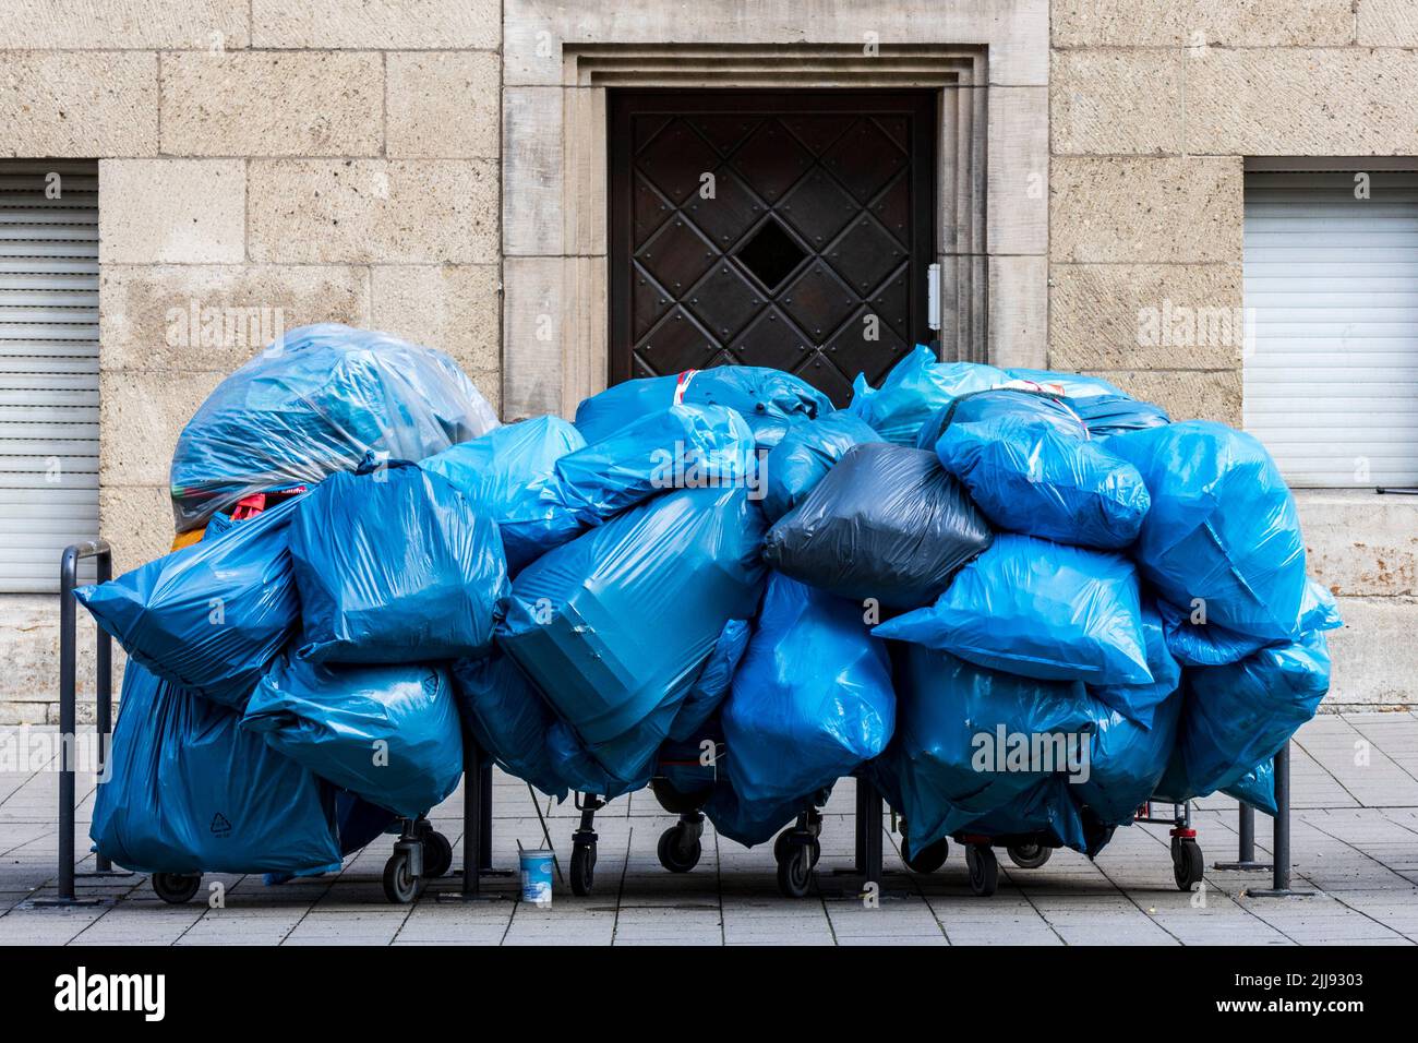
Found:
[{"label": "beige stone block wall to the left of the door surround", "polygon": [[[501,37],[498,0],[0,4],[0,155],[101,160],[116,568],[167,551],[177,431],[262,346],[184,342],[173,309],[389,329],[450,352],[498,404]],[[0,724],[43,722],[55,600],[0,597]]]}]

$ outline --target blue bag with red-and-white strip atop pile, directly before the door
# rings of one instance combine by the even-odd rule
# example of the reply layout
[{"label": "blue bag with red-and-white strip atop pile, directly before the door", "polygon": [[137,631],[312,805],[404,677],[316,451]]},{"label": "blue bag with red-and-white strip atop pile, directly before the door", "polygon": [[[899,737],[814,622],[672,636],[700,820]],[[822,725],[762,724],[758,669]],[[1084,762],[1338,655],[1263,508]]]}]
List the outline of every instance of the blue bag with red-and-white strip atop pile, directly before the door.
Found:
[{"label": "blue bag with red-and-white strip atop pile, directly before the door", "polygon": [[681,402],[727,406],[749,423],[763,447],[776,446],[793,424],[832,412],[822,392],[791,373],[766,366],[712,366],[608,387],[577,406],[576,426],[587,441],[600,441],[647,413]]}]

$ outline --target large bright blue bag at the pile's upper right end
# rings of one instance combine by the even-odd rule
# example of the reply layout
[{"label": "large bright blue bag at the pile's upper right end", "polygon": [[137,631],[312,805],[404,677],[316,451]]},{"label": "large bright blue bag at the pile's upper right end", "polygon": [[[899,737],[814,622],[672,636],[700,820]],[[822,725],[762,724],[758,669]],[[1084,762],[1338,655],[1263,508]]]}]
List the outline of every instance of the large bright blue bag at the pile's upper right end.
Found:
[{"label": "large bright blue bag at the pile's upper right end", "polygon": [[1147,482],[1133,558],[1161,599],[1239,634],[1293,640],[1305,597],[1295,498],[1252,436],[1207,420],[1107,440]]}]

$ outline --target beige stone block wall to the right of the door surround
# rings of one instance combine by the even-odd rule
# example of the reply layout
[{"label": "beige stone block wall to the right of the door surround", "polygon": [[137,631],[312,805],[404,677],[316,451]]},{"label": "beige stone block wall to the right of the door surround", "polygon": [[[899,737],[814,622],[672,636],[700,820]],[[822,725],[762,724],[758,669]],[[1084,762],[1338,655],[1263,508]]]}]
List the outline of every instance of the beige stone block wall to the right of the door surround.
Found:
[{"label": "beige stone block wall to the right of the door surround", "polygon": [[[1241,308],[1246,156],[1418,155],[1418,3],[1052,0],[1051,34],[1049,362],[1239,426],[1242,345],[1140,343],[1140,312]],[[1299,501],[1346,619],[1329,708],[1411,705],[1418,505]]]}]

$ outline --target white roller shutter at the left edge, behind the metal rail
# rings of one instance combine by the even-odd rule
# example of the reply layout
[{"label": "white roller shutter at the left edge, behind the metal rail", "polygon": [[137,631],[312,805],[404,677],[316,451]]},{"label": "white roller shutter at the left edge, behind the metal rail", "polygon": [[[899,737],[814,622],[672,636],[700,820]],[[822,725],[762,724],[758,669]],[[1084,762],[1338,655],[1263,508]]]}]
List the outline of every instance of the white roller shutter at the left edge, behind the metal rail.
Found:
[{"label": "white roller shutter at the left edge, behind the metal rail", "polygon": [[0,160],[0,592],[96,535],[98,163]]}]

